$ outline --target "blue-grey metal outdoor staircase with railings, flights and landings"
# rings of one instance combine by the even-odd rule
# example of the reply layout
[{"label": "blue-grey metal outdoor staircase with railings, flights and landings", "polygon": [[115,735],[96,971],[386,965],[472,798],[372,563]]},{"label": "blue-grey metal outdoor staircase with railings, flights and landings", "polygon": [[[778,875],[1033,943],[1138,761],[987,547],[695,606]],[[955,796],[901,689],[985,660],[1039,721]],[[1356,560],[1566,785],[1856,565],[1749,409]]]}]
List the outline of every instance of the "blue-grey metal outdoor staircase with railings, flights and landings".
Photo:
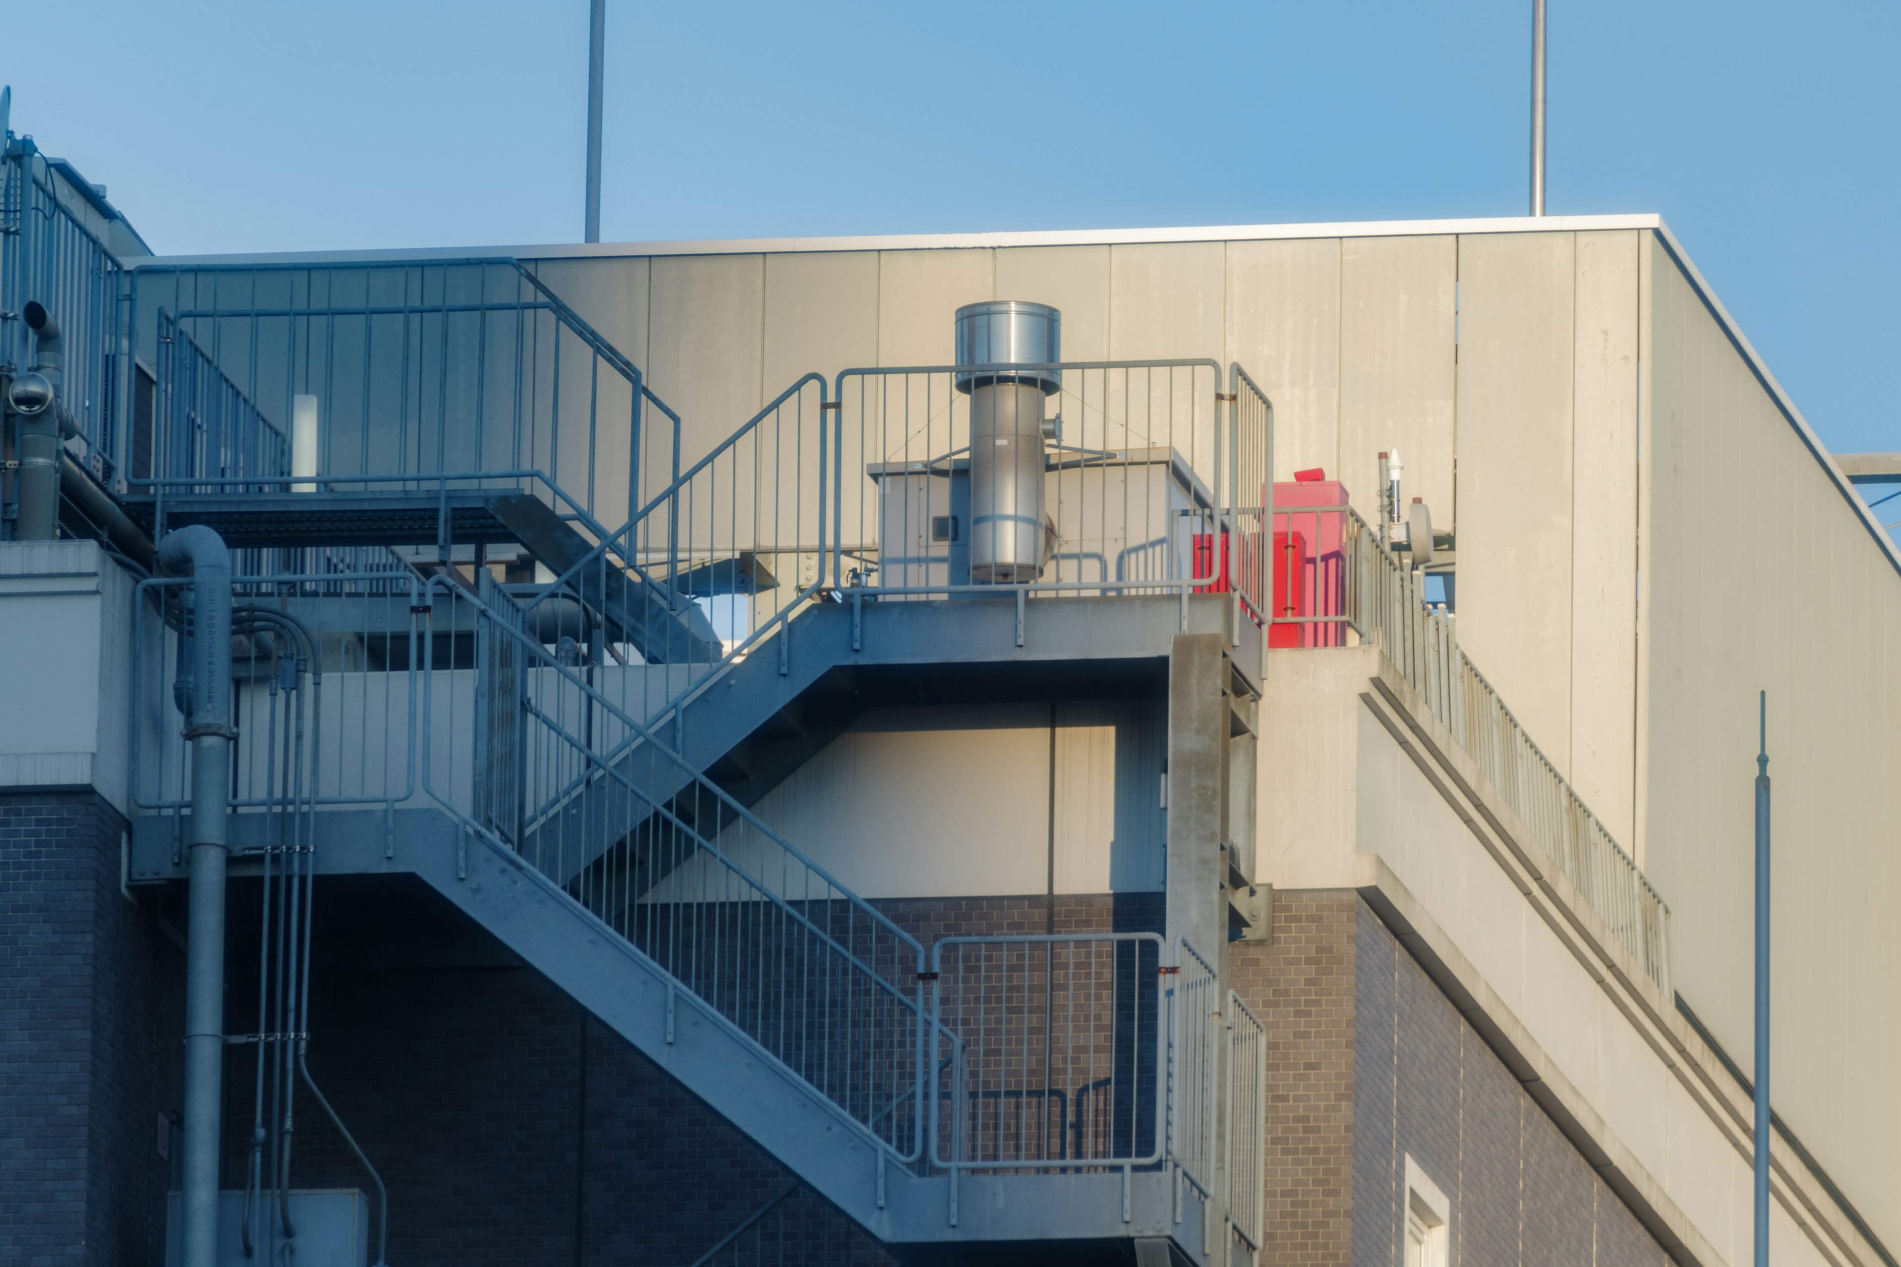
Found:
[{"label": "blue-grey metal outdoor staircase with railings, flights and landings", "polygon": [[[753,811],[874,703],[1165,691],[1182,633],[1258,661],[1243,560],[1264,557],[1262,507],[1238,509],[1255,498],[1234,490],[1264,488],[1266,467],[1243,469],[1241,410],[1220,407],[1238,370],[1224,384],[1211,363],[1066,367],[1101,391],[1084,393],[1053,479],[1074,475],[1084,520],[1114,484],[1120,555],[1089,538],[1046,585],[971,585],[954,568],[920,585],[909,564],[888,576],[912,583],[874,585],[880,522],[935,509],[926,488],[893,511],[905,446],[920,446],[924,482],[956,479],[954,437],[840,407],[848,380],[863,401],[880,372],[836,389],[806,376],[682,471],[679,418],[519,264],[177,270],[141,277],[141,312],[158,312],[146,285],[177,315],[156,325],[169,342],[154,473],[127,477],[120,501],[154,534],[226,534],[243,596],[297,614],[331,648],[314,653],[338,657],[321,707],[350,733],[308,758],[316,876],[420,878],[911,1258],[968,1244],[1040,1258],[1061,1242],[1213,1263],[1258,1248],[1253,1223],[1224,1216],[1207,1153],[1226,1030],[1205,988],[1175,984],[1190,946],[971,936],[945,961],[947,944],[933,955]],[[563,365],[563,348],[580,355]],[[1173,382],[1184,367],[1200,386]],[[620,439],[601,425],[605,378],[620,384]],[[325,410],[316,463],[259,399]],[[671,435],[643,418],[671,420]],[[895,450],[873,439],[893,427]],[[1215,494],[1169,475],[1188,469],[1175,448],[1188,433],[1226,454]],[[624,494],[618,479],[612,496],[597,488],[605,444],[625,454]],[[485,465],[485,446],[506,460]],[[557,482],[563,462],[580,494]],[[1146,536],[1129,526],[1137,484],[1162,498]],[[599,513],[616,503],[627,524],[608,532]],[[1219,574],[1198,562],[1209,534]],[[1087,572],[1106,557],[1122,562]],[[144,581],[137,604],[141,883],[182,876],[186,762],[162,703],[177,634],[154,612],[184,585]],[[260,699],[240,682],[240,710]],[[268,847],[257,804],[240,785],[234,874]],[[1057,1007],[1066,1049],[1002,1058],[998,1033],[1047,1037]],[[1036,1106],[1042,1125],[1009,1125],[1000,1106]]]}]

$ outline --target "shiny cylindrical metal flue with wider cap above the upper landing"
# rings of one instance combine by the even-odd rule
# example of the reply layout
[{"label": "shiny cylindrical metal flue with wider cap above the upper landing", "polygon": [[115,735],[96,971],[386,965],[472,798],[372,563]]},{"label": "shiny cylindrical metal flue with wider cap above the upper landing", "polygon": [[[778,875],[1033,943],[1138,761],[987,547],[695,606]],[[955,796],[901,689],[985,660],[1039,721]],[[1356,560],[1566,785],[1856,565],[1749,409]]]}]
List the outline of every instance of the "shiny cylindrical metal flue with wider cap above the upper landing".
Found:
[{"label": "shiny cylindrical metal flue with wider cap above the upper landing", "polygon": [[[956,310],[956,386],[970,393],[970,579],[1021,585],[1044,574],[1044,397],[1061,391],[1063,313],[994,300]],[[973,367],[973,369],[964,369]],[[983,369],[975,369],[983,367]]]}]

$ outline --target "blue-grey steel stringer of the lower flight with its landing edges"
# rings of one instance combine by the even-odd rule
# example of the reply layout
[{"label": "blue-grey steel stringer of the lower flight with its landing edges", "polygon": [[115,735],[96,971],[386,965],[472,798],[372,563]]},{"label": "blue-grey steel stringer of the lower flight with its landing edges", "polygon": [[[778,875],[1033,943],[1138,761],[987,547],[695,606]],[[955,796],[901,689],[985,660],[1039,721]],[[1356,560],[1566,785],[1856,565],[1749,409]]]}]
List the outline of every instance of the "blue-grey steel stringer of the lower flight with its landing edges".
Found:
[{"label": "blue-grey steel stringer of the lower flight with its landing edges", "polygon": [[[173,860],[179,823],[169,815],[133,819],[131,883],[186,878],[182,859]],[[257,859],[247,851],[268,843],[274,843],[270,815],[232,815],[232,874],[255,874]],[[414,876],[435,889],[907,1259],[954,1256],[958,1246],[1013,1258],[1008,1250],[1015,1246],[1021,1258],[1042,1261],[1051,1240],[1125,1248],[1131,1239],[1171,1237],[1188,1261],[1213,1267],[1200,1254],[1203,1202],[1182,1185],[1177,1208],[1177,1183],[1167,1170],[1131,1174],[1127,1193],[1114,1170],[966,1174],[952,1221],[950,1176],[916,1174],[886,1155],[880,1202],[882,1149],[838,1106],[519,855],[464,832],[439,809],[323,811],[314,821],[314,845],[319,876]]]}]

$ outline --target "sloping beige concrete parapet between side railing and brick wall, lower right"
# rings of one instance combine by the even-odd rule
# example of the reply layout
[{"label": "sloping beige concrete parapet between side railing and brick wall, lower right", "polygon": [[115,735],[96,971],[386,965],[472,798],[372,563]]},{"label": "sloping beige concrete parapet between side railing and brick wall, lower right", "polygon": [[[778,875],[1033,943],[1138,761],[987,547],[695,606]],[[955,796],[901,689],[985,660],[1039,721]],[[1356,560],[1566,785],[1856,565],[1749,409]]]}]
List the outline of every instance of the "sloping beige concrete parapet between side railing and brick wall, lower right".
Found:
[{"label": "sloping beige concrete parapet between side railing and brick wall, lower right", "polygon": [[[1542,1083],[1582,1123],[1692,1256],[1745,1261],[1747,1132],[1717,1107],[1724,1075],[1699,1081],[1686,1071],[1713,1069],[1713,1056],[1696,1052],[1661,995],[1633,1001],[1553,910],[1530,900],[1525,876],[1475,828],[1473,807],[1449,794],[1452,779],[1395,741],[1371,688],[1378,672],[1373,648],[1270,653],[1258,879],[1384,893],[1431,925],[1428,940],[1437,938],[1471,982],[1468,1016],[1530,1052],[1521,1081]],[[1420,1068],[1443,1079],[1424,1050]],[[1728,1092],[1739,1102],[1734,1085]],[[1863,1206],[1876,1212],[1886,1216],[1880,1204]],[[1774,1214],[1783,1261],[1829,1261],[1825,1239],[1814,1227],[1804,1233],[1781,1199]]]}]

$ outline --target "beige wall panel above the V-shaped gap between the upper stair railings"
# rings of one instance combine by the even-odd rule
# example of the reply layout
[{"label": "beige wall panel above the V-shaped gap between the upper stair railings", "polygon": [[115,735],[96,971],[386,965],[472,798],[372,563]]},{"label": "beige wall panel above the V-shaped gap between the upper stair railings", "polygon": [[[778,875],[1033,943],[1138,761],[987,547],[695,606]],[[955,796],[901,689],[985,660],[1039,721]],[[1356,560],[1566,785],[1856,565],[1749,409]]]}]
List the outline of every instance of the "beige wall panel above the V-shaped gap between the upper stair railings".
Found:
[{"label": "beige wall panel above the V-shaped gap between the upper stair railings", "polygon": [[764,256],[654,260],[648,382],[681,414],[681,465],[762,405]]}]

